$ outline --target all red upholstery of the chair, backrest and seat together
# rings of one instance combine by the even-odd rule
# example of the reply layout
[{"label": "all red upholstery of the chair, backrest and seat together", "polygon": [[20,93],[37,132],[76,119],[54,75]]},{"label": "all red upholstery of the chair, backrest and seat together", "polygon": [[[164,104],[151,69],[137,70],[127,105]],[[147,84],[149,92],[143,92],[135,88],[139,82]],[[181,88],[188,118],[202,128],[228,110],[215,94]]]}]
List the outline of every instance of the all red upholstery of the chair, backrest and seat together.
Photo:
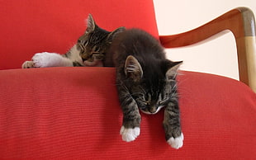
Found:
[{"label": "all red upholstery of the chair, backrest and seat together", "polygon": [[141,114],[138,139],[121,140],[114,68],[17,69],[36,52],[69,49],[88,12],[107,30],[136,26],[158,35],[151,1],[1,2],[0,158],[256,157],[256,94],[242,82],[181,72],[184,145],[176,150],[165,142],[163,111]]}]

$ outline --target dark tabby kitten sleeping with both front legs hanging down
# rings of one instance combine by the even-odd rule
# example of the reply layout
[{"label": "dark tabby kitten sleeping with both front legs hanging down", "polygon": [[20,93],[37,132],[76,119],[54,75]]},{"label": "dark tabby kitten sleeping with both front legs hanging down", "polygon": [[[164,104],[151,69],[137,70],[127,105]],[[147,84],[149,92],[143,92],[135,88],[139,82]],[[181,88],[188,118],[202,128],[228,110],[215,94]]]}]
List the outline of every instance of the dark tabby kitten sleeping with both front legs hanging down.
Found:
[{"label": "dark tabby kitten sleeping with both front legs hanging down", "polygon": [[116,87],[123,111],[122,139],[130,142],[139,136],[139,109],[153,115],[165,106],[165,139],[173,148],[181,148],[183,133],[176,76],[182,62],[166,59],[159,41],[139,29],[126,30],[117,35],[109,53],[114,57]]}]

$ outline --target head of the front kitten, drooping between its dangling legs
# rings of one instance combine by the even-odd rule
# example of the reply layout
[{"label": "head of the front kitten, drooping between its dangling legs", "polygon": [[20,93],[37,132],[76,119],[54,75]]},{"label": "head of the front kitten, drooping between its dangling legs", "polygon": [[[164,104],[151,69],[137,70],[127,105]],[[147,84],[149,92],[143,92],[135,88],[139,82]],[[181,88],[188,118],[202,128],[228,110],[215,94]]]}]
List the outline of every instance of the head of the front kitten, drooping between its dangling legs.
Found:
[{"label": "head of the front kitten, drooping between its dangling legs", "polygon": [[178,101],[176,75],[181,62],[159,60],[143,70],[139,61],[129,55],[126,58],[125,74],[129,90],[140,111],[155,114],[170,101]]}]

